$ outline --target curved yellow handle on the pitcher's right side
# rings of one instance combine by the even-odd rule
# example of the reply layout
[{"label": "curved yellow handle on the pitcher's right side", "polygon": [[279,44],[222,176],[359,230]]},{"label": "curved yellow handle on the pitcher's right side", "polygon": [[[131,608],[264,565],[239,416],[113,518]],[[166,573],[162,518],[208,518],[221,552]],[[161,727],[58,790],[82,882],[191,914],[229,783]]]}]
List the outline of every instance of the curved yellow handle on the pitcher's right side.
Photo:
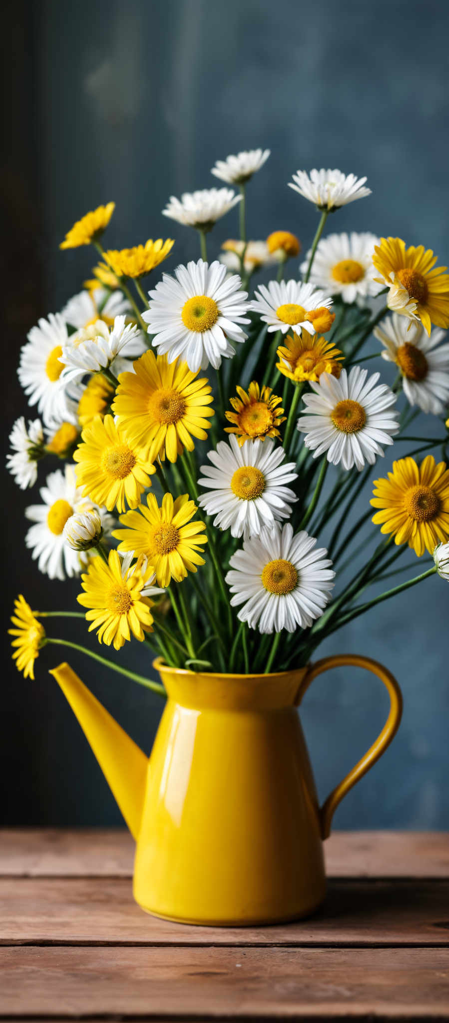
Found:
[{"label": "curved yellow handle on the pitcher's right side", "polygon": [[375,761],[381,757],[381,754],[390,745],[392,739],[396,736],[399,728],[399,724],[402,716],[402,693],[396,681],[396,678],[388,670],[384,668],[384,665],[379,664],[378,661],[371,660],[370,657],[358,657],[353,654],[338,654],[334,657],[323,657],[321,661],[317,661],[316,664],[312,664],[304,677],[298,695],[296,699],[296,705],[298,706],[304,694],[309,688],[313,679],[320,675],[323,671],[327,671],[328,668],[340,668],[342,665],[352,665],[355,668],[366,668],[367,671],[372,671],[377,678],[384,682],[384,685],[388,690],[390,696],[390,712],[387,721],[377,736],[377,739],[369,747],[369,750],[361,758],[361,760],[356,763],[355,767],[349,771],[349,774],[343,779],[340,785],[332,789],[331,793],[327,796],[327,799],[323,803],[319,811],[319,820],[321,828],[321,837],[326,839],[330,834],[330,824],[333,813],[342,801],[343,797],[346,796],[347,792],[353,788],[359,779],[363,777],[364,774],[375,764]]}]

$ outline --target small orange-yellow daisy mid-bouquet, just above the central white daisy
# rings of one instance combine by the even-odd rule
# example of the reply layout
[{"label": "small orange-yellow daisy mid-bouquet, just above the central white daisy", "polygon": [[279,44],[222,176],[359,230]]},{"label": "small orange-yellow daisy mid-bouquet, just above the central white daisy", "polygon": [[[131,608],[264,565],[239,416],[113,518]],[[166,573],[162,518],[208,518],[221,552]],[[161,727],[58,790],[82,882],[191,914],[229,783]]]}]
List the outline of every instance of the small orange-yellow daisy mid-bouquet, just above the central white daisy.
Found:
[{"label": "small orange-yellow daisy mid-bouquet, just above the central white daisy", "polygon": [[271,393],[271,387],[259,387],[256,381],[250,384],[246,391],[237,387],[238,398],[231,398],[234,412],[226,412],[226,418],[232,427],[225,427],[225,433],[237,434],[239,445],[244,441],[260,440],[266,437],[280,437],[278,427],[285,421],[283,408],[277,408],[282,401]]}]

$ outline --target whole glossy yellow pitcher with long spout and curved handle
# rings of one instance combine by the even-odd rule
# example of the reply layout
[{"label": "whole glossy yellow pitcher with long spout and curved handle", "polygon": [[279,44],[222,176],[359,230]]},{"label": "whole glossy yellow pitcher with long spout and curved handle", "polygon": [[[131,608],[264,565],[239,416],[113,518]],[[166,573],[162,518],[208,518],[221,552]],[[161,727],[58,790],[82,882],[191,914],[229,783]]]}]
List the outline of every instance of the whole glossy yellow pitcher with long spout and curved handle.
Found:
[{"label": "whole glossy yellow pitcher with long spout and curved handle", "polygon": [[[297,707],[313,678],[340,665],[374,672],[391,707],[375,743],[319,807]],[[345,655],[269,675],[154,666],[168,701],[149,760],[69,665],[52,672],[136,839],[136,901],[189,924],[310,914],[324,897],[322,840],[333,811],[399,726],[395,678]]]}]

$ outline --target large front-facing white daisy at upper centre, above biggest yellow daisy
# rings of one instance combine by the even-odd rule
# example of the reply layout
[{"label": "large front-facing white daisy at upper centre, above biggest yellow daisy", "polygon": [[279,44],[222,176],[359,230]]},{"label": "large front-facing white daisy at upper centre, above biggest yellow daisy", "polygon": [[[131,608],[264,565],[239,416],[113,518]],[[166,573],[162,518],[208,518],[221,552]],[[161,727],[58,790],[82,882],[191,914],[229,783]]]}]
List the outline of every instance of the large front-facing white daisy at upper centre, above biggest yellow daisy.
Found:
[{"label": "large front-facing white daisy at upper centre, above biggest yellow daisy", "polygon": [[149,292],[149,309],[142,313],[152,345],[169,362],[178,356],[197,372],[211,363],[215,369],[222,358],[230,359],[235,349],[230,341],[245,341],[239,326],[249,323],[248,293],[241,292],[238,274],[226,275],[226,267],[215,261],[178,266],[175,276],[165,273]]}]

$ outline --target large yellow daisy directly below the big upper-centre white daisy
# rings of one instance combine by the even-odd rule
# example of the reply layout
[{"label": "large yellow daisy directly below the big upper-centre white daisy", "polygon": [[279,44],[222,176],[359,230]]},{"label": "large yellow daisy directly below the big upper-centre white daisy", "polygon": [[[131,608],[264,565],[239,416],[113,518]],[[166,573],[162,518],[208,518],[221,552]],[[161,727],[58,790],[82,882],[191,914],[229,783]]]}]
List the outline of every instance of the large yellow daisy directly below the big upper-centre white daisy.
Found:
[{"label": "large yellow daisy directly below the big upper-centre white daisy", "polygon": [[166,355],[144,354],[134,373],[121,373],[113,411],[133,444],[149,449],[150,461],[176,461],[184,447],[192,451],[192,437],[207,440],[214,409],[206,376],[197,380],[186,362],[168,362]]}]

